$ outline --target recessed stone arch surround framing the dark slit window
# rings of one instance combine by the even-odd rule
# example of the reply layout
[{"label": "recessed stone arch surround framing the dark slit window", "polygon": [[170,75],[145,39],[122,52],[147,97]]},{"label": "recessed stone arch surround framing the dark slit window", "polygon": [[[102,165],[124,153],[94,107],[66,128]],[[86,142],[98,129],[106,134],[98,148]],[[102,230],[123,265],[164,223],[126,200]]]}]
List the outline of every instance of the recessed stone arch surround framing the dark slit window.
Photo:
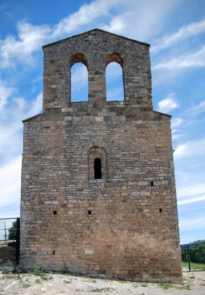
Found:
[{"label": "recessed stone arch surround framing the dark slit window", "polygon": [[89,179],[95,177],[95,161],[101,160],[101,179],[107,179],[107,152],[105,148],[93,146],[88,150],[88,176]]}]

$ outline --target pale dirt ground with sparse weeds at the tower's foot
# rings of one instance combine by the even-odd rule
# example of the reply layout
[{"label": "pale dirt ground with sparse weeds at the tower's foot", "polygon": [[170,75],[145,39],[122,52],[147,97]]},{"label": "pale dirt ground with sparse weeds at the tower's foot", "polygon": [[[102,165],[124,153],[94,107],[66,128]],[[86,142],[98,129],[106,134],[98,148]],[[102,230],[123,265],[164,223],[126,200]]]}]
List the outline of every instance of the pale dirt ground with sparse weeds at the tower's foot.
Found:
[{"label": "pale dirt ground with sparse weeds at the tower's foot", "polygon": [[[44,279],[43,279],[44,278]],[[134,283],[70,274],[0,272],[0,295],[205,295],[205,271],[183,272],[185,285]]]}]

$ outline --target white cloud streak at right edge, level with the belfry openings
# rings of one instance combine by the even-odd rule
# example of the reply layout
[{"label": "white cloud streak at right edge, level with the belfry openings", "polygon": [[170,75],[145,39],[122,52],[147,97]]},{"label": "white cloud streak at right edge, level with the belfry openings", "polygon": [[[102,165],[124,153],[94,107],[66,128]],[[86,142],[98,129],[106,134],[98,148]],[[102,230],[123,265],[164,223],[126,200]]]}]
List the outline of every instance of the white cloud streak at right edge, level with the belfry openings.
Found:
[{"label": "white cloud streak at right edge, level with the belfry openings", "polygon": [[152,70],[170,70],[177,73],[179,69],[198,68],[205,66],[205,45],[198,51],[164,60],[152,67]]}]

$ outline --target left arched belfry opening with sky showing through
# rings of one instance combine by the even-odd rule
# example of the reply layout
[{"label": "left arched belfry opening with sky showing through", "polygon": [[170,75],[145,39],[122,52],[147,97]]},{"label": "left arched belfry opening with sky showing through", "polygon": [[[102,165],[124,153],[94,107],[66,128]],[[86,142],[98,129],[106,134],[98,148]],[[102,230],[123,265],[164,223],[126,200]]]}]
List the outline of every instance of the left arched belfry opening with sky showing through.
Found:
[{"label": "left arched belfry opening with sky showing through", "polygon": [[70,83],[70,101],[88,101],[87,59],[82,53],[76,53],[70,59]]}]

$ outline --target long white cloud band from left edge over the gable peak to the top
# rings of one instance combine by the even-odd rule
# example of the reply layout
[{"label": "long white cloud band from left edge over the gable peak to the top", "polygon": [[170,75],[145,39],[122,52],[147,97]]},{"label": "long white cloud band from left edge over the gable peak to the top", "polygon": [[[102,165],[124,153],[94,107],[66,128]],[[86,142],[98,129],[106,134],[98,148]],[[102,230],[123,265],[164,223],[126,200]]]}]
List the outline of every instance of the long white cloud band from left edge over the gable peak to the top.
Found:
[{"label": "long white cloud band from left edge over the gable peak to the top", "polygon": [[[147,41],[160,30],[164,18],[176,3],[177,0],[147,0],[146,4],[141,0],[95,0],[83,4],[54,27],[19,22],[18,36],[10,35],[0,40],[0,67],[14,67],[19,62],[33,65],[34,52],[41,50],[42,45],[56,38],[69,37],[72,32],[78,33],[82,26],[86,29],[100,27]],[[110,20],[109,25],[102,23],[103,17]]]}]

